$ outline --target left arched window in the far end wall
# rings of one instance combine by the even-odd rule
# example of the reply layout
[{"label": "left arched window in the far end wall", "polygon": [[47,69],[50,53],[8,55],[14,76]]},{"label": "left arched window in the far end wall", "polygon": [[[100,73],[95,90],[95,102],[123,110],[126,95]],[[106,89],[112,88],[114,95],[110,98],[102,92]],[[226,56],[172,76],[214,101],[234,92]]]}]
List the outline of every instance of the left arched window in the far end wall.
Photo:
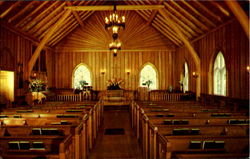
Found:
[{"label": "left arched window in the far end wall", "polygon": [[81,64],[78,65],[73,72],[73,88],[82,89],[80,81],[86,81],[86,86],[91,86],[91,74],[89,69]]}]

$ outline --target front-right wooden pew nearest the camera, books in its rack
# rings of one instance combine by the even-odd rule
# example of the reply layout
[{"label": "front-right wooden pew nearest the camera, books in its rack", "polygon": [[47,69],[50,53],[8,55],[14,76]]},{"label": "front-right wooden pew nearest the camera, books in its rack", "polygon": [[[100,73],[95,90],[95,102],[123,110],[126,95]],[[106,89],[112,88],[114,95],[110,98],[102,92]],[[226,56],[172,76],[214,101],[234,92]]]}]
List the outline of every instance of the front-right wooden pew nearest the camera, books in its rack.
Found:
[{"label": "front-right wooden pew nearest the camera, books in its rack", "polygon": [[[201,146],[197,149],[191,149],[191,141],[201,141]],[[216,148],[215,142],[211,146],[206,146],[209,141],[222,141],[223,147]],[[220,142],[218,142],[220,143]],[[249,138],[245,136],[164,136],[158,133],[158,154],[157,158],[171,159],[176,158],[178,154],[192,154],[195,156],[198,154],[199,157],[213,158],[214,155],[209,154],[220,154],[221,157],[237,156],[247,157],[248,153],[245,152],[246,148],[249,147]],[[208,145],[208,144],[207,144]],[[215,147],[215,148],[213,148]],[[205,156],[203,156],[205,154]]]}]

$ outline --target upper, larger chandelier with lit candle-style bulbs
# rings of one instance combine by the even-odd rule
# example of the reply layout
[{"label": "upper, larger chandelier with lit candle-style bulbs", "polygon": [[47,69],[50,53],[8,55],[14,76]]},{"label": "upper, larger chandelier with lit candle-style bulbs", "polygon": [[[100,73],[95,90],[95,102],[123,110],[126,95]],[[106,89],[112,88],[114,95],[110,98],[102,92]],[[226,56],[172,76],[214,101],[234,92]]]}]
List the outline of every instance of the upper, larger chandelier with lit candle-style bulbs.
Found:
[{"label": "upper, larger chandelier with lit candle-style bulbs", "polygon": [[110,14],[109,17],[105,17],[105,28],[112,30],[114,40],[118,39],[119,29],[125,29],[125,16],[119,17],[116,12],[116,5],[114,5],[114,13]]}]

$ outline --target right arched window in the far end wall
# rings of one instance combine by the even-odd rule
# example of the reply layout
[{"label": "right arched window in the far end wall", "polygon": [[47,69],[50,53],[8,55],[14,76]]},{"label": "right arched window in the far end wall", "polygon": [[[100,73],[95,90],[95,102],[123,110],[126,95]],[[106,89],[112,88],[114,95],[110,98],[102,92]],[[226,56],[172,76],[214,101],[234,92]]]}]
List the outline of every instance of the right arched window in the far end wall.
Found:
[{"label": "right arched window in the far end wall", "polygon": [[147,87],[148,83],[149,89],[157,89],[157,73],[150,64],[145,65],[140,73],[140,87]]}]

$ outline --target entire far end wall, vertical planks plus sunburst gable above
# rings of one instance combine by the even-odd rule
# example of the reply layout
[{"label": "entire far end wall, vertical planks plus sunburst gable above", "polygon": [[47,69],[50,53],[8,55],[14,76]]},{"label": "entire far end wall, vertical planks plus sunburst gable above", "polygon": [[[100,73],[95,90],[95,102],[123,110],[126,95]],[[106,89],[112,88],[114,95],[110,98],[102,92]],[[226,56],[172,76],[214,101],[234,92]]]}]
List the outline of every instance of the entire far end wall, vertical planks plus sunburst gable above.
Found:
[{"label": "entire far end wall, vertical planks plus sunburst gable above", "polygon": [[[174,45],[134,11],[121,12],[126,16],[126,28],[119,38],[122,51],[117,57],[108,51],[111,33],[105,30],[104,19],[109,12],[96,12],[85,26],[76,29],[56,47],[55,86],[72,88],[74,68],[84,63],[93,73],[93,88],[105,90],[106,81],[122,78],[125,89],[136,90],[139,86],[139,72],[145,63],[152,63],[159,73],[159,89],[173,85],[172,56]],[[101,74],[102,71],[106,73]],[[126,72],[130,71],[128,75]]]}]

